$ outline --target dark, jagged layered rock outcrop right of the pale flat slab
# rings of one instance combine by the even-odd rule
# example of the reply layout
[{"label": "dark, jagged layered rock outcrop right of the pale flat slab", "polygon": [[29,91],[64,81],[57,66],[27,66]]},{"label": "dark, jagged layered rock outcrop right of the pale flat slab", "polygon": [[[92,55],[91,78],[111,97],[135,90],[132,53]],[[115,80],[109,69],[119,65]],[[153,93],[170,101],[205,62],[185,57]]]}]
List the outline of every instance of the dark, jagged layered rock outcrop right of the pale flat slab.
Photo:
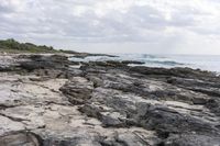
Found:
[{"label": "dark, jagged layered rock outcrop right of the pale flat slab", "polygon": [[155,131],[162,145],[218,145],[219,77],[215,74],[188,68],[84,69],[97,86],[80,111],[103,126]]}]

